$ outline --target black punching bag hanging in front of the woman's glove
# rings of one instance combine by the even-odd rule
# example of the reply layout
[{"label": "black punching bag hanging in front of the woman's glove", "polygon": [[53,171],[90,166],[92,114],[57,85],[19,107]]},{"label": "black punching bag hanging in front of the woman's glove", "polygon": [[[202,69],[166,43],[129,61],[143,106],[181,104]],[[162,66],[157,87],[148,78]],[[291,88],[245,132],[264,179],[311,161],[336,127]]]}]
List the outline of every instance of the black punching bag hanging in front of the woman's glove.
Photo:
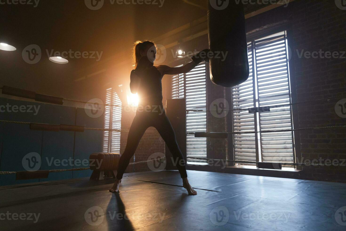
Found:
[{"label": "black punching bag hanging in front of the woman's glove", "polygon": [[243,4],[234,0],[208,2],[209,49],[214,55],[209,62],[210,79],[216,85],[233,87],[249,77]]}]

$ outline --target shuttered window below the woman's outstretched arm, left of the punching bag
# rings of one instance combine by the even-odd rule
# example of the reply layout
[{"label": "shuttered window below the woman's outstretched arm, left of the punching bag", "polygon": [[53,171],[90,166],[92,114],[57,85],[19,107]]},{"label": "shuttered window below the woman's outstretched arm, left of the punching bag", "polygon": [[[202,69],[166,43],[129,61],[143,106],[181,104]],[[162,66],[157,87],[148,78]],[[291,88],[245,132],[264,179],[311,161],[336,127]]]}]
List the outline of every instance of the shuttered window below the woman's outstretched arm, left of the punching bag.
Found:
[{"label": "shuttered window below the woman's outstretched arm, left of the punching bag", "polygon": [[[206,63],[200,63],[188,73],[172,76],[172,99],[185,98],[186,110],[207,109]],[[206,132],[207,113],[189,112],[186,132]],[[186,155],[189,158],[207,158],[207,138],[186,135]],[[190,159],[191,160],[191,159]]]}]

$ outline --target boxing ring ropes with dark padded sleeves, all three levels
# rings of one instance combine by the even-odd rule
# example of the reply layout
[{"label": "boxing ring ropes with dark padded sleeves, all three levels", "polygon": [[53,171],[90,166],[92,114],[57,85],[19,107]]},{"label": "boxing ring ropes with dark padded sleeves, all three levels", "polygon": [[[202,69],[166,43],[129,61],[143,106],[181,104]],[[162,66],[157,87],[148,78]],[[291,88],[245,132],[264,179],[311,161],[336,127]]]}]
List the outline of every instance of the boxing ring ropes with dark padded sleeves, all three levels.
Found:
[{"label": "boxing ring ropes with dark padded sleeves, all three levels", "polygon": [[[42,95],[38,94],[34,91],[28,91],[24,89],[19,88],[13,88],[9,86],[0,86],[0,89],[2,89],[2,94],[5,95],[11,95],[11,96],[17,96],[22,98],[28,98],[28,99],[34,99],[38,102],[44,102],[44,103],[51,103],[56,105],[63,105],[65,101],[69,102],[75,102],[75,103],[84,103],[84,104],[93,104],[92,102],[88,101],[82,101],[77,99],[68,99],[68,98],[61,98],[56,96],[49,96],[49,95]],[[311,103],[319,103],[322,101],[330,101],[332,99],[345,97],[344,95],[336,95],[333,97],[328,98],[321,98],[321,99],[313,99],[313,100],[306,100],[306,101],[300,101],[295,103],[289,103],[289,104],[281,104],[281,105],[271,105],[271,106],[265,106],[265,107],[247,107],[247,108],[236,108],[236,109],[225,109],[225,111],[248,111],[249,113],[260,113],[260,112],[270,112],[271,108],[280,108],[280,107],[288,107],[293,105],[299,105],[299,104],[311,104]],[[124,107],[121,105],[112,105],[112,104],[102,104],[98,106],[110,106],[110,107]],[[189,112],[211,112],[211,110],[186,110],[186,114]],[[105,129],[105,128],[92,128],[92,127],[84,127],[84,126],[77,126],[77,125],[67,125],[67,124],[43,124],[43,123],[31,123],[31,122],[23,122],[23,121],[8,121],[8,120],[0,120],[0,122],[3,123],[15,123],[15,124],[23,124],[23,125],[29,125],[30,130],[38,130],[38,131],[51,131],[51,132],[58,132],[58,131],[70,131],[70,132],[84,132],[85,130],[93,130],[93,131],[110,131],[110,132],[129,132],[129,130],[124,129]],[[211,137],[211,138],[220,138],[225,139],[228,137],[229,134],[259,134],[259,133],[276,133],[276,132],[294,132],[294,131],[308,131],[308,130],[325,130],[325,129],[336,129],[336,128],[346,128],[346,125],[335,125],[335,126],[325,126],[325,127],[303,127],[303,128],[294,128],[294,129],[288,129],[288,130],[261,130],[261,131],[250,131],[250,132],[184,132],[185,134],[193,134],[195,137]],[[156,132],[154,130],[147,130],[146,132]],[[177,131],[176,131],[177,132]],[[180,131],[180,134],[181,131]],[[161,158],[163,159],[163,158]],[[197,158],[193,157],[189,159],[195,159],[195,160],[220,160],[220,159],[210,159],[210,158]],[[287,163],[287,162],[257,162],[257,161],[242,161],[242,160],[221,160],[226,162],[233,162],[233,163],[247,163],[247,164],[255,164],[258,168],[269,168],[269,169],[281,169],[282,166],[325,166],[326,163]],[[148,162],[148,161],[142,161],[142,162]],[[136,164],[136,163],[130,163],[130,164]],[[338,161],[337,163],[333,163],[333,166],[345,166],[343,161]],[[49,171],[42,171],[43,174],[46,174],[45,176],[48,176],[49,172],[60,172],[60,171],[78,171],[78,170],[86,170],[90,168],[74,168],[74,169],[55,169],[55,170],[49,170]],[[92,169],[93,170],[93,169]],[[107,170],[116,170],[116,167],[113,169],[107,169]],[[39,171],[37,171],[39,173]],[[0,171],[0,175],[6,175],[6,174],[17,174],[19,178],[25,179],[26,177],[33,177],[35,176],[29,176],[30,173],[28,172],[16,172],[16,171]],[[36,178],[40,178],[42,175],[37,175]],[[114,176],[113,176],[114,177]],[[101,179],[101,177],[99,177]],[[32,179],[32,178],[31,178]]]}]

